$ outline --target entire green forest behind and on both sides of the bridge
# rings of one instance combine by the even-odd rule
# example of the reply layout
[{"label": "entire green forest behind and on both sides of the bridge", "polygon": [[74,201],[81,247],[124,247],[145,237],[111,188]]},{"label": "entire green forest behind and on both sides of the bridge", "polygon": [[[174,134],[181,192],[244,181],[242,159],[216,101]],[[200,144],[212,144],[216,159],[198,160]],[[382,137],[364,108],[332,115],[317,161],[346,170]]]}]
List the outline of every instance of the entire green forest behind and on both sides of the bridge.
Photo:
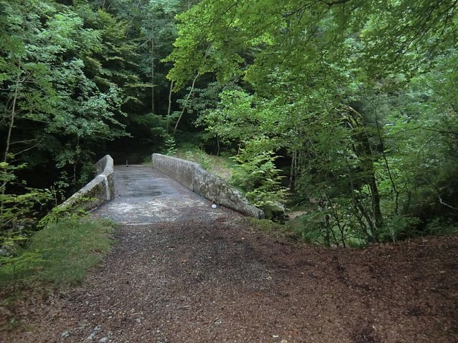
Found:
[{"label": "entire green forest behind and on both sides of the bridge", "polygon": [[[457,232],[458,0],[0,0],[1,239],[183,144],[326,246]],[[283,205],[284,204],[284,205]],[[0,241],[1,243],[1,241]]]}]

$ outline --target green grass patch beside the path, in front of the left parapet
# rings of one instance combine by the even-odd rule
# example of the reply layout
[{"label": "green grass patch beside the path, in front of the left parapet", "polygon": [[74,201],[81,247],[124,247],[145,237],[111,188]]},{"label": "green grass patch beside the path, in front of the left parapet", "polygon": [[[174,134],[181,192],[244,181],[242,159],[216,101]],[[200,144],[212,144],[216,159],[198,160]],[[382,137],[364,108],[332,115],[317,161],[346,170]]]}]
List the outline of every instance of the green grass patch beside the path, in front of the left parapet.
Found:
[{"label": "green grass patch beside the path, in front of the left parapet", "polygon": [[48,283],[81,283],[87,272],[111,251],[115,224],[69,218],[35,233],[26,248],[3,257],[0,286],[17,289]]}]

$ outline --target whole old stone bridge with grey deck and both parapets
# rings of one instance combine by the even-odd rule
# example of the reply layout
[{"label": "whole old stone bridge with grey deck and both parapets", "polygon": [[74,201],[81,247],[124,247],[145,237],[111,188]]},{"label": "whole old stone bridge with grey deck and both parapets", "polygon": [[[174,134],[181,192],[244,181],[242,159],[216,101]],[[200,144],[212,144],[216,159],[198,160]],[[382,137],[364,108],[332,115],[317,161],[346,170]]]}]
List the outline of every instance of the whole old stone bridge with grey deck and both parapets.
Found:
[{"label": "whole old stone bridge with grey deck and both parapets", "polygon": [[61,204],[62,209],[78,206],[122,224],[213,220],[227,209],[264,217],[239,191],[198,163],[152,154],[152,165],[114,166],[106,155],[95,166],[98,175]]}]

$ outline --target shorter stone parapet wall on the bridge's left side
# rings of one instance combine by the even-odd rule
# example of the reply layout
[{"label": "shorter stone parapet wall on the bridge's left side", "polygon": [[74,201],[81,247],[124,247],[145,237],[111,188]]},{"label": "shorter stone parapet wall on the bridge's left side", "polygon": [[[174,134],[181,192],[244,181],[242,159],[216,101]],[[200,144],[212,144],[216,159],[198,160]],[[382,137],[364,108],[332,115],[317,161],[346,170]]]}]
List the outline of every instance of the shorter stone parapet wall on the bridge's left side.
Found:
[{"label": "shorter stone parapet wall on the bridge's left side", "polygon": [[65,202],[62,202],[58,206],[60,209],[67,210],[78,207],[89,211],[115,198],[113,158],[110,155],[100,158],[95,163],[95,169],[97,176]]}]

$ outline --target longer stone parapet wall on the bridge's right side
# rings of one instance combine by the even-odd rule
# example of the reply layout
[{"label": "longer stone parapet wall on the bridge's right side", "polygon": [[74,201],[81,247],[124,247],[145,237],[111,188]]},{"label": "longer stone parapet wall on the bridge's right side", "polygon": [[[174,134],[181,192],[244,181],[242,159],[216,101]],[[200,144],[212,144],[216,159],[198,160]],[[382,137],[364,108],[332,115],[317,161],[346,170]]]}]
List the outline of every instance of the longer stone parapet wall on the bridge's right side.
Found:
[{"label": "longer stone parapet wall on the bridge's right side", "polygon": [[264,218],[264,212],[250,204],[237,189],[231,187],[225,180],[209,173],[198,163],[162,154],[152,154],[152,167],[211,200],[214,204],[226,206],[258,219]]}]

